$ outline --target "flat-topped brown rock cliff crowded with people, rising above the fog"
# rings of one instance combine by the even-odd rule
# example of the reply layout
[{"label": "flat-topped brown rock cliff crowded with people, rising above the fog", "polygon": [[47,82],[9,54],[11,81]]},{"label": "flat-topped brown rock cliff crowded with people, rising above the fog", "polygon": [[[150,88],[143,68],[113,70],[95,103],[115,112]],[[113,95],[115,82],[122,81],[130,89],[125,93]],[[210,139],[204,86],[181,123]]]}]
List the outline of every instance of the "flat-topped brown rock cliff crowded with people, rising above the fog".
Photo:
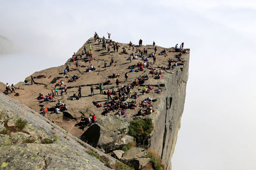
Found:
[{"label": "flat-topped brown rock cliff crowded with people, rising above the fog", "polygon": [[[65,131],[83,139],[93,147],[99,148],[102,152],[111,153],[122,162],[129,164],[129,166],[132,166],[133,163],[131,164],[131,162],[136,162],[134,164],[137,164],[137,166],[133,167],[136,169],[141,168],[146,165],[145,162],[148,162],[148,157],[150,157],[147,156],[146,158],[144,154],[134,159],[124,159],[122,155],[127,153],[120,150],[131,148],[130,145],[132,145],[132,147],[139,147],[137,150],[145,148],[148,151],[152,150],[157,153],[166,169],[171,169],[172,154],[186,96],[189,49],[183,49],[182,57],[180,57],[180,52],[175,48],[157,46],[156,63],[154,63],[152,57],[150,57],[151,53],[155,52],[152,45],[136,45],[132,50],[132,48],[128,48],[129,44],[118,43],[119,50],[116,52],[115,48],[113,48],[116,42],[107,41],[107,44],[111,46],[109,52],[104,46],[102,47],[102,43],[95,42],[93,38],[90,38],[74,54],[74,57],[68,59],[63,66],[52,67],[32,74],[31,76],[35,80],[33,85],[30,83],[30,76],[26,78],[24,83],[15,85],[17,88],[15,91],[19,92],[19,96],[14,96],[10,93],[6,94],[28,105],[29,108],[38,111],[38,113],[41,108],[48,108],[49,111],[45,113],[45,118],[48,119],[48,122],[59,125]],[[86,49],[84,49],[84,46]],[[90,53],[84,53],[84,50],[88,51],[88,46],[92,47],[90,51],[93,55],[92,60],[90,60]],[[131,54],[135,57],[130,61],[128,58]],[[108,63],[106,69],[104,68],[105,61]],[[76,62],[77,65],[75,64]],[[138,66],[140,62],[148,63],[148,66],[141,69]],[[176,66],[174,65],[175,62],[177,63]],[[95,70],[88,71],[88,66],[92,65]],[[63,74],[67,66],[69,71],[67,74]],[[131,70],[132,68],[133,71]],[[154,74],[152,74],[153,70]],[[159,78],[158,74],[160,72],[161,77]],[[125,73],[128,74],[127,80],[124,78]],[[76,80],[70,81],[72,77],[76,77]],[[119,87],[116,85],[116,78],[119,80]],[[141,81],[136,85],[134,80]],[[63,89],[63,85],[60,86],[61,81],[64,85],[67,85],[67,93],[64,93],[63,96],[60,95],[60,90]],[[135,84],[129,97],[126,96],[125,92],[121,96],[125,98],[125,101],[122,101],[123,104],[131,104],[135,100],[136,106],[134,108],[126,108],[125,115],[120,114],[118,117],[116,113],[119,113],[116,111],[124,109],[117,107],[118,109],[115,111],[105,112],[103,106],[108,106],[110,103],[108,103],[106,94],[99,92],[100,83],[104,84],[104,92],[107,92],[108,89],[113,91],[111,96],[114,98],[114,103],[119,101],[119,91],[125,91],[127,86]],[[4,85],[2,86],[2,89],[4,89]],[[77,95],[78,87],[81,87],[82,91],[79,99],[72,97],[74,93]],[[94,89],[94,95],[90,93],[91,87]],[[147,87],[148,92],[143,93],[143,87]],[[47,96],[56,88],[59,94],[56,94],[51,101],[36,99],[39,93]],[[134,98],[135,94],[139,96],[136,99]],[[147,112],[150,109],[149,106],[146,109],[147,107],[144,108],[143,104],[140,104],[141,102],[144,103],[145,99],[147,101],[148,97],[151,100],[150,107],[152,107],[152,112]],[[58,101],[67,104],[68,110],[61,111],[60,114],[54,113],[54,108]],[[102,104],[103,106],[98,106],[97,104]],[[138,115],[139,110],[142,110],[143,114]],[[83,128],[75,126],[81,120],[81,117],[88,118],[93,114],[96,115],[95,124]],[[137,120],[149,119],[152,120],[153,124],[149,125],[152,128],[152,131],[148,132],[149,134],[147,132],[131,132],[130,122],[135,121],[138,127],[139,124],[144,124],[147,121],[142,121],[141,123],[136,122]],[[37,122],[40,121],[38,120]],[[143,126],[141,125],[135,131],[147,131],[147,125],[145,125],[146,128],[144,130],[141,130]],[[140,139],[142,138],[141,136],[143,136],[143,139]],[[5,137],[8,138],[7,136]],[[51,138],[53,140],[54,136]],[[141,141],[143,142],[141,143]],[[36,142],[40,143],[40,140]],[[156,169],[156,167],[154,168]]]}]

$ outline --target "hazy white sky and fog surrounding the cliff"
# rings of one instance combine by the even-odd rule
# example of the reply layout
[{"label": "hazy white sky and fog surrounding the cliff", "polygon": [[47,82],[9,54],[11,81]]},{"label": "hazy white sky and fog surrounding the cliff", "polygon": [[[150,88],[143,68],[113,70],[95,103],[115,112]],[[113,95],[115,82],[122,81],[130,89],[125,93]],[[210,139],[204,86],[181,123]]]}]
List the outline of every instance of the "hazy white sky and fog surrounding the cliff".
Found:
[{"label": "hazy white sky and fog surrounding the cliff", "polygon": [[191,48],[173,170],[256,169],[256,1],[2,1],[0,81],[60,66],[97,31]]}]

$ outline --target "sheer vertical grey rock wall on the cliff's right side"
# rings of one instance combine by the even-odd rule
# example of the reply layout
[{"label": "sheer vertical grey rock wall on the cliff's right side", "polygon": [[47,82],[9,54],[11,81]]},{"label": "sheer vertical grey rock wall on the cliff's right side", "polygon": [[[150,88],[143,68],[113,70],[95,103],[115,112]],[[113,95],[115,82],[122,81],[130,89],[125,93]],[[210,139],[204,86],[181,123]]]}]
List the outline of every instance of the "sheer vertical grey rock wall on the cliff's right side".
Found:
[{"label": "sheer vertical grey rock wall on the cliff's right side", "polygon": [[156,114],[151,117],[154,120],[154,132],[150,148],[161,156],[166,169],[172,169],[171,159],[184,110],[189,54],[186,54],[185,60],[184,67],[173,70],[161,80],[165,90],[157,99]]}]

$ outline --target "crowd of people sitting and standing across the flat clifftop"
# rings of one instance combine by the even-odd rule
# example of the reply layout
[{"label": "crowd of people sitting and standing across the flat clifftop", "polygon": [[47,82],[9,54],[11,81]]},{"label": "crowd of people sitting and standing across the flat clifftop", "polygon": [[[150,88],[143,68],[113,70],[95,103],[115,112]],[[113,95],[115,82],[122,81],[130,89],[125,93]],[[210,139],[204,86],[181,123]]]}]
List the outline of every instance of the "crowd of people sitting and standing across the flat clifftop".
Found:
[{"label": "crowd of people sitting and standing across the flat clifftop", "polygon": [[[100,38],[97,32],[95,32],[95,34],[93,35],[94,42],[98,43],[98,45],[101,44],[102,50],[106,50],[108,55],[112,52],[118,52],[118,49],[121,48],[122,46],[118,42],[112,41],[110,37],[111,37],[111,33],[109,32],[108,32],[108,39],[106,39],[104,36]],[[90,87],[90,96],[94,96],[95,89],[99,89],[99,94],[106,95],[106,99],[108,99],[108,101],[106,101],[103,104],[93,102],[93,104],[95,104],[96,107],[103,108],[102,115],[108,115],[109,113],[111,113],[111,111],[113,111],[114,115],[127,117],[127,114],[129,114],[129,110],[136,110],[136,108],[138,107],[139,107],[138,113],[135,116],[146,116],[146,115],[152,114],[154,112],[153,110],[154,100],[152,98],[147,97],[137,104],[138,97],[148,94],[150,93],[151,90],[154,89],[153,85],[145,85],[145,81],[147,81],[150,78],[150,76],[148,76],[148,74],[145,73],[145,71],[148,70],[149,74],[152,74],[152,78],[161,79],[161,76],[166,69],[174,69],[174,67],[179,66],[177,62],[179,61],[183,62],[182,50],[184,49],[184,43],[181,43],[180,46],[178,44],[175,45],[175,52],[178,52],[179,54],[176,56],[177,60],[170,58],[167,61],[168,67],[156,66],[157,65],[157,55],[156,55],[157,46],[155,41],[153,41],[152,48],[151,48],[153,49],[154,52],[150,52],[150,53],[148,52],[147,48],[143,48],[143,50],[141,50],[140,46],[142,46],[142,43],[143,41],[142,39],[140,39],[138,46],[135,46],[130,41],[129,48],[127,48],[126,46],[122,47],[122,51],[120,53],[123,53],[124,57],[125,58],[127,57],[127,60],[129,60],[130,62],[132,62],[132,60],[138,60],[136,64],[130,65],[127,68],[129,69],[129,71],[126,71],[125,74],[122,73],[121,75],[113,74],[111,76],[108,76],[106,81],[100,83],[99,86]],[[70,62],[74,62],[74,66],[76,66],[75,67],[76,69],[80,66],[79,60],[85,56],[86,60],[84,61],[88,62],[88,66],[86,67],[85,71],[86,72],[95,71],[96,67],[93,66],[93,60],[95,60],[95,56],[93,55],[93,50],[92,50],[93,48],[95,47],[93,47],[92,44],[88,46],[84,45],[83,52],[77,53],[77,54],[74,53],[74,55],[72,55]],[[168,56],[168,50],[164,48],[161,52],[158,53],[158,55]],[[108,65],[107,59],[108,57],[104,59],[104,67],[103,67],[104,71],[107,69],[107,67],[111,67],[114,64],[116,64],[115,59],[111,57],[111,60]],[[152,60],[152,62],[150,62],[150,60]],[[79,80],[79,76],[76,74],[74,74],[73,76],[69,76],[68,75],[70,74],[69,66],[70,64],[69,65],[67,64],[61,74],[63,74],[64,78],[68,78],[67,79],[68,83],[72,83],[74,81]],[[134,81],[129,83],[128,82],[129,74],[133,72],[140,72],[140,71],[141,73],[143,72],[143,74],[140,77],[136,78]],[[120,80],[123,79],[123,77],[124,77],[124,81],[120,82]],[[38,97],[37,97],[40,103],[52,101],[53,99],[58,99],[59,101],[56,104],[56,106],[54,106],[54,111],[53,111],[56,114],[60,114],[61,111],[68,110],[67,105],[64,103],[61,103],[60,99],[57,97],[59,96],[59,90],[60,90],[61,100],[64,99],[65,94],[68,94],[67,92],[68,87],[63,80],[58,81],[55,84],[54,88],[51,89],[51,92],[48,93],[46,96],[40,93],[38,94]],[[115,81],[116,87],[111,87],[112,89],[105,89],[104,86],[109,85],[111,81]],[[33,85],[33,83],[35,83],[35,79],[33,76],[31,76],[31,85]],[[120,85],[120,83],[122,83],[122,85]],[[134,87],[138,87],[138,88],[134,89]],[[142,88],[140,89],[140,87]],[[154,89],[154,90],[156,94],[160,94],[162,91],[161,89]],[[10,87],[10,85],[6,83],[6,92],[8,93],[9,91],[11,93],[12,92],[15,93],[15,87],[13,84]],[[68,99],[74,101],[74,100],[79,100],[81,97],[82,97],[82,87],[79,86],[77,89],[77,95],[76,93],[73,93],[73,95],[68,97]],[[41,108],[40,114],[45,115],[45,113],[47,113],[48,111],[49,111],[49,108],[45,108],[43,106]],[[81,121],[78,124],[76,124],[76,126],[85,127],[86,125],[90,125],[93,122],[95,122],[95,114],[93,115],[92,113],[90,114],[91,114],[90,117],[92,118],[82,117]]]}]

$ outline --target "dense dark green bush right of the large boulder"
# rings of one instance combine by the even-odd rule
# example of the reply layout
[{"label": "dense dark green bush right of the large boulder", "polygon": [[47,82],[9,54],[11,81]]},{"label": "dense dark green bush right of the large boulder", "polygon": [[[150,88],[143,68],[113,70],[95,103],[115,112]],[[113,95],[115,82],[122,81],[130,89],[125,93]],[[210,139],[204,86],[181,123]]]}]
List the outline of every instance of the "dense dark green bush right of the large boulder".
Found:
[{"label": "dense dark green bush right of the large boulder", "polygon": [[129,135],[138,139],[145,139],[153,131],[154,124],[152,119],[145,118],[140,120],[132,120],[129,126]]}]

